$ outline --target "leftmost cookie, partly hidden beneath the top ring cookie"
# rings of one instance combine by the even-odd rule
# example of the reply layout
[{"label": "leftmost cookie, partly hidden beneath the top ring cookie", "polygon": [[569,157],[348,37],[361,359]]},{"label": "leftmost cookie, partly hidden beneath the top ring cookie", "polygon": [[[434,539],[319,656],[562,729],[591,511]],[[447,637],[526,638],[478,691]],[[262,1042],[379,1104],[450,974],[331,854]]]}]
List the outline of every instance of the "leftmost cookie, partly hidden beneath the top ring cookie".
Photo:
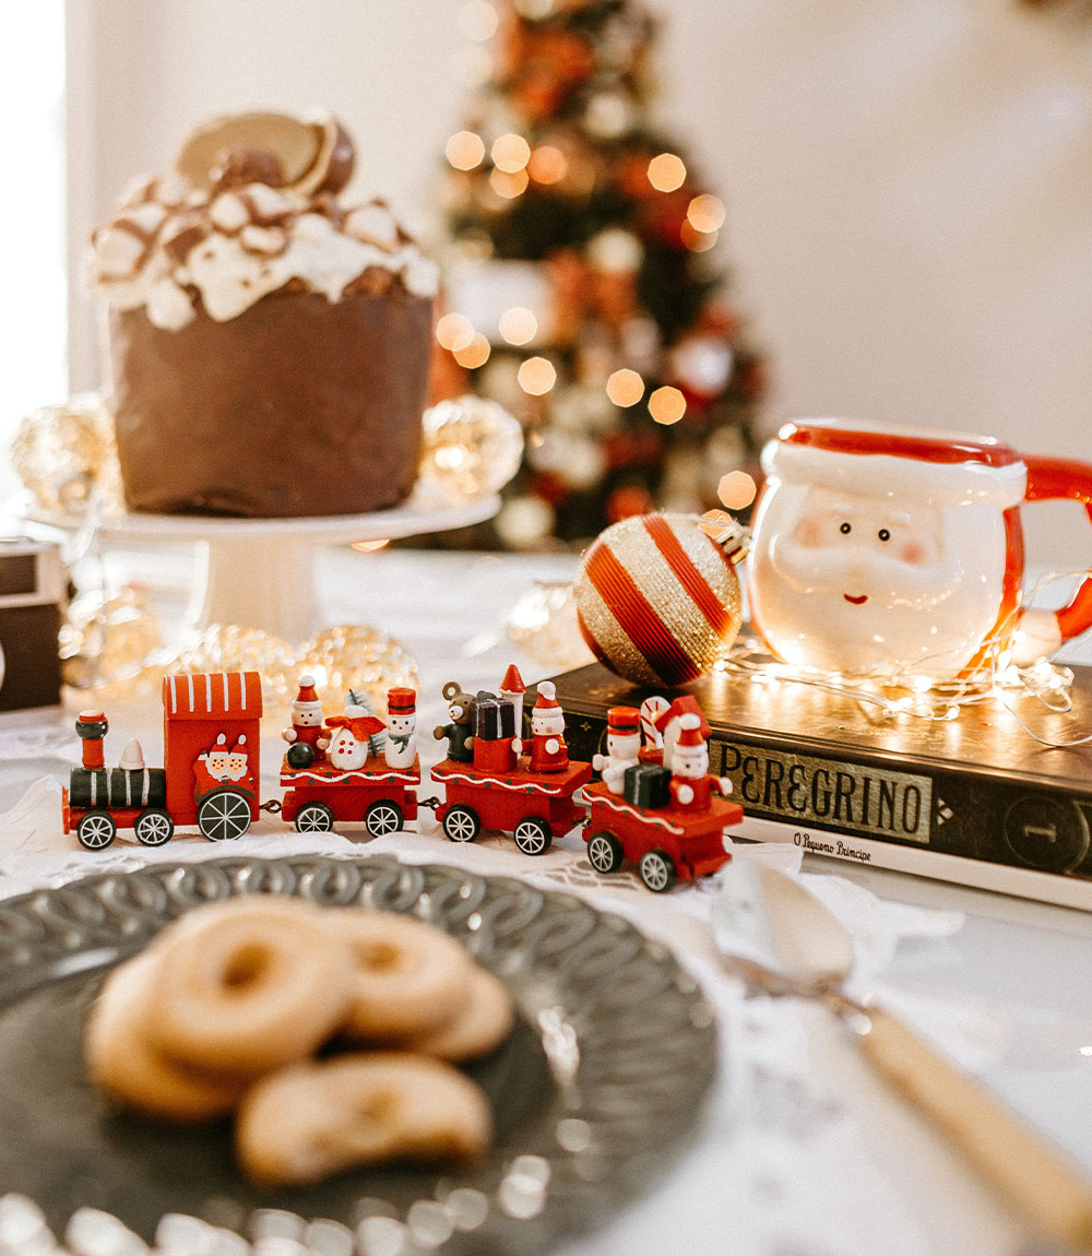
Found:
[{"label": "leftmost cookie, partly hidden beneath the top ring cookie", "polygon": [[154,952],[115,968],[92,1009],[84,1053],[92,1081],[149,1117],[191,1124],[231,1112],[237,1081],[187,1070],[144,1040],[148,1007],[159,988]]}]

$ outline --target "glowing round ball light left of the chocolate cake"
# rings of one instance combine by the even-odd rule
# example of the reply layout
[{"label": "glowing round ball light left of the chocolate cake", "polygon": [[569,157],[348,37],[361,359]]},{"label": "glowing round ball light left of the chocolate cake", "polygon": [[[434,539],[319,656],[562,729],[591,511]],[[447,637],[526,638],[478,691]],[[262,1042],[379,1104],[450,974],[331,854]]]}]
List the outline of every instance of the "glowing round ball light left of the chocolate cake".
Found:
[{"label": "glowing round ball light left of the chocolate cake", "polygon": [[78,515],[93,500],[102,514],[124,510],[114,425],[95,393],[28,414],[15,435],[11,463],[40,511]]}]

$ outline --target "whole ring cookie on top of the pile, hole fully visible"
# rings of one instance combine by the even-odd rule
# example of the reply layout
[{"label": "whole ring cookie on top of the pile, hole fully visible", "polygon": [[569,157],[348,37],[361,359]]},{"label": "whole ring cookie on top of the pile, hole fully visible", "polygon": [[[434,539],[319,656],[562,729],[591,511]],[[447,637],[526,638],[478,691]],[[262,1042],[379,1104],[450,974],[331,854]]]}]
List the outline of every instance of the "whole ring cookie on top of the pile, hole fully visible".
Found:
[{"label": "whole ring cookie on top of the pile, hole fully visible", "polygon": [[320,913],[264,894],[190,913],[157,943],[149,1041],[177,1064],[237,1076],[316,1051],[351,997],[351,956]]}]

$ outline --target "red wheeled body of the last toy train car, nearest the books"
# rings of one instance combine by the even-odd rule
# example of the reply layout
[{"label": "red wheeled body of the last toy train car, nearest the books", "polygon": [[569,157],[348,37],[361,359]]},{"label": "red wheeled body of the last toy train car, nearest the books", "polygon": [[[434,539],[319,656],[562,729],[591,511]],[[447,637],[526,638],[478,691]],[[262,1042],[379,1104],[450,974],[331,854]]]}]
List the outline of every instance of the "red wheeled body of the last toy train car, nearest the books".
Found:
[{"label": "red wheeled body of the last toy train car, nearest the books", "polygon": [[611,873],[633,859],[641,880],[656,893],[728,863],[727,830],[743,819],[743,808],[725,798],[712,799],[708,811],[640,808],[602,781],[589,785],[584,799],[590,805],[584,840],[591,867]]}]

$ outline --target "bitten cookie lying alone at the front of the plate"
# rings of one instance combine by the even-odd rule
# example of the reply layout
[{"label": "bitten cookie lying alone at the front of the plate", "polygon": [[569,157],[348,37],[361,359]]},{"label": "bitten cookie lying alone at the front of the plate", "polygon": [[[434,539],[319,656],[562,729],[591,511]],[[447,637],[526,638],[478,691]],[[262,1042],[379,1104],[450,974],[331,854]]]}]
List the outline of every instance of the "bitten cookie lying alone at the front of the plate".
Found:
[{"label": "bitten cookie lying alone at the front of the plate", "polygon": [[236,1154],[257,1184],[296,1186],[388,1159],[474,1161],[491,1137],[488,1102],[466,1074],[375,1051],[257,1081],[238,1110]]}]

